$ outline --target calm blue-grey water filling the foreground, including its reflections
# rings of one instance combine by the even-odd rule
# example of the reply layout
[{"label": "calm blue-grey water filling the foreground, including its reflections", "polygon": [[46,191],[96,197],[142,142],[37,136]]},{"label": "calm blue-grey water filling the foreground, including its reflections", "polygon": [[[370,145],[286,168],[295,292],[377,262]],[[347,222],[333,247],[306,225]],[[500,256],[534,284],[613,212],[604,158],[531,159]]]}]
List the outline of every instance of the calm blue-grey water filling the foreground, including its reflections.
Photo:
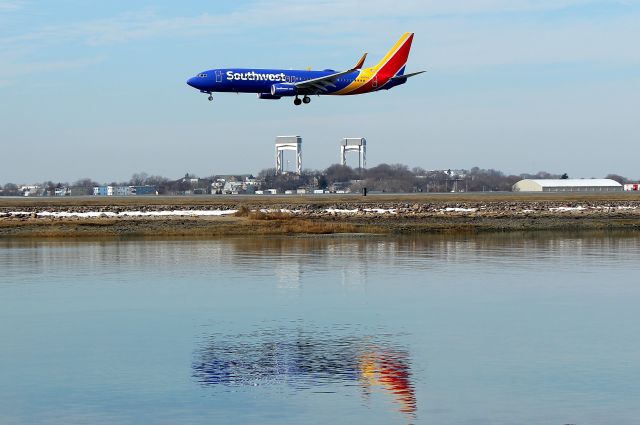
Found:
[{"label": "calm blue-grey water filling the foreground, including its reflections", "polygon": [[0,424],[637,424],[640,237],[0,241]]}]

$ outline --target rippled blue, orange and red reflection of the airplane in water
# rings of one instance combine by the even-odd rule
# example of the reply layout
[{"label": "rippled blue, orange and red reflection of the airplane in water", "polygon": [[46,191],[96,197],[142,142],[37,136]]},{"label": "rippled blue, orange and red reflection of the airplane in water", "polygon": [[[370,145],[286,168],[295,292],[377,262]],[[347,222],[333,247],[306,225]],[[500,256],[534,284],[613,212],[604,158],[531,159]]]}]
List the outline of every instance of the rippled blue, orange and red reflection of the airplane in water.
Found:
[{"label": "rippled blue, orange and red reflection of the airplane in water", "polygon": [[373,337],[278,330],[212,338],[196,352],[192,368],[203,386],[286,384],[305,390],[356,384],[365,396],[375,389],[391,394],[412,419],[417,409],[408,352]]}]

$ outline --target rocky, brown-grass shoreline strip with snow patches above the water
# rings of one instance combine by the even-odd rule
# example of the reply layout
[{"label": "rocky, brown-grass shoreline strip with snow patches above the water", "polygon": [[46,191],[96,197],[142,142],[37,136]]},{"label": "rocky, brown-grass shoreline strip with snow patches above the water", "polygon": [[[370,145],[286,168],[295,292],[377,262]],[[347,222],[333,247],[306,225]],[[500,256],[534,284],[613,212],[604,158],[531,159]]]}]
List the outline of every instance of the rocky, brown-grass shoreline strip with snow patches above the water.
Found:
[{"label": "rocky, brown-grass shoreline strip with snow patches above the water", "polygon": [[0,238],[640,232],[640,195],[0,199]]}]

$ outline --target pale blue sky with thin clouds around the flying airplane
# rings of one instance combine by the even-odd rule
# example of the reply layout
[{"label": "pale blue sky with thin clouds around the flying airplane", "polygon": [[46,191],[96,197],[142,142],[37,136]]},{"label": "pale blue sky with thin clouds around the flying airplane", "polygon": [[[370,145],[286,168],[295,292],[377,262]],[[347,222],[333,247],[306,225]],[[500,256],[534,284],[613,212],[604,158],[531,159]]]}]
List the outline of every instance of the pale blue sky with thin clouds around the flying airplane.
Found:
[{"label": "pale blue sky with thin clouds around the flying airplane", "polygon": [[[372,64],[404,32],[427,73],[389,91],[294,106],[185,83]],[[640,0],[0,0],[0,184],[257,173],[293,134],[305,169],[365,137],[369,167],[640,178],[638,40]]]}]

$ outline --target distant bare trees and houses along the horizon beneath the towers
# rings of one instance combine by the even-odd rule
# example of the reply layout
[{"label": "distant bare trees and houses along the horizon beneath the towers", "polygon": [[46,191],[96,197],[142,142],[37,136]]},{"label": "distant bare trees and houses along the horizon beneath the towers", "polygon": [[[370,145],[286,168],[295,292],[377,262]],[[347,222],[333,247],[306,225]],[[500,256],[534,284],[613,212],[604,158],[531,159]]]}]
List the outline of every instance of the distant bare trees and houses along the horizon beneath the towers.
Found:
[{"label": "distant bare trees and houses along the horizon beneath the towers", "polygon": [[[242,181],[251,175],[216,176],[198,178],[185,174],[178,179],[163,176],[135,173],[128,181],[98,183],[90,178],[79,179],[73,183],[46,181],[38,184],[40,195],[53,196],[56,189],[74,188],[76,195],[91,195],[95,186],[154,186],[161,195],[212,193],[211,184],[222,177],[231,181]],[[568,178],[564,174],[553,174],[540,171],[535,174],[505,174],[494,169],[473,167],[470,170],[425,170],[420,167],[409,169],[403,164],[380,164],[368,169],[354,169],[339,164],[331,165],[325,170],[304,170],[301,175],[286,173],[276,175],[275,169],[268,168],[257,175],[253,189],[277,189],[279,192],[299,188],[323,189],[329,191],[360,192],[364,188],[369,191],[408,193],[408,192],[481,192],[510,191],[511,187],[522,179],[559,179]],[[631,182],[630,179],[608,174],[605,178],[621,184]],[[0,186],[0,196],[21,196],[20,186],[6,183]]]}]

